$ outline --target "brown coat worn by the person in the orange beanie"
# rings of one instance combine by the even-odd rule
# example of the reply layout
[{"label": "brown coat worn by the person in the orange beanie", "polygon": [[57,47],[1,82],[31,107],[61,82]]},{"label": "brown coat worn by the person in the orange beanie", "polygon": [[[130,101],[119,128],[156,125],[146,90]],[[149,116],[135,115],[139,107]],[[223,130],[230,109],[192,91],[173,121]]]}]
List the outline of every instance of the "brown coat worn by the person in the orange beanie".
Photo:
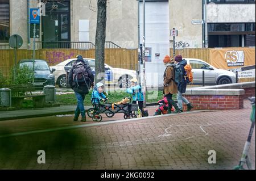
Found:
[{"label": "brown coat worn by the person in the orange beanie", "polygon": [[164,95],[177,94],[177,85],[174,82],[174,71],[175,70],[172,66],[168,66],[164,73],[164,85],[169,85],[164,87]]}]

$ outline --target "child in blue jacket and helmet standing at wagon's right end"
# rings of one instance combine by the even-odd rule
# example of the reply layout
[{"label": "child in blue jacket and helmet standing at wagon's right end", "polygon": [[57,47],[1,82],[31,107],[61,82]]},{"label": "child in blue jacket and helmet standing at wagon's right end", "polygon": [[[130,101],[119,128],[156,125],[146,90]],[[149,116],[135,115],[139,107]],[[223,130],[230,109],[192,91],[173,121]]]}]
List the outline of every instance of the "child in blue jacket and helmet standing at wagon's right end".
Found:
[{"label": "child in blue jacket and helmet standing at wagon's right end", "polygon": [[147,116],[147,113],[143,109],[144,96],[142,93],[141,85],[138,84],[136,78],[131,79],[131,87],[126,91],[129,94],[133,94],[133,104],[139,104],[139,109],[142,111],[142,116]]}]

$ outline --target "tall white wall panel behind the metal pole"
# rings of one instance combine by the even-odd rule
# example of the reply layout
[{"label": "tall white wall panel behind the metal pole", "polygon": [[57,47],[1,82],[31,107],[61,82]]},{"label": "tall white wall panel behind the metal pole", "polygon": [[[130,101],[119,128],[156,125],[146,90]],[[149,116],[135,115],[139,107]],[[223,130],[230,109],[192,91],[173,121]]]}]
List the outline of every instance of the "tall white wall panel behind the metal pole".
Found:
[{"label": "tall white wall panel behind the metal pole", "polygon": [[[141,43],[143,35],[143,9],[140,6]],[[147,86],[162,86],[163,58],[170,54],[168,2],[146,2],[146,47],[151,47],[151,62],[146,62]],[[156,58],[155,53],[160,53]],[[155,73],[155,74],[153,74]]]}]

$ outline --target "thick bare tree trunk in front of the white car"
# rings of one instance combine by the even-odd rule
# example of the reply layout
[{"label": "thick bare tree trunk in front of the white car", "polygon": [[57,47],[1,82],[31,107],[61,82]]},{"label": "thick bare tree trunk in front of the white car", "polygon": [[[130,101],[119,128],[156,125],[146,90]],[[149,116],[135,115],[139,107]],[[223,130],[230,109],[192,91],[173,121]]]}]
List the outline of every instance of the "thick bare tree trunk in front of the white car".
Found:
[{"label": "thick bare tree trunk in front of the white car", "polygon": [[98,0],[97,30],[95,41],[96,83],[101,82],[102,80],[104,82],[105,80],[106,4],[107,0]]}]

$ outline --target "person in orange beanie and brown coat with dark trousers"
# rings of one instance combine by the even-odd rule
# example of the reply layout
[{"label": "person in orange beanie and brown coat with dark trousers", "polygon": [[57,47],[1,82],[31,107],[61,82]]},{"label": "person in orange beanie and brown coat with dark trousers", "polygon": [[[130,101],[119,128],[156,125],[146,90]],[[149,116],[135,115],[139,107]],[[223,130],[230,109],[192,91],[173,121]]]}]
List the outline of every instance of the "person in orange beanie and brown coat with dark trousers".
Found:
[{"label": "person in orange beanie and brown coat with dark trousers", "polygon": [[172,99],[173,94],[177,94],[177,84],[175,74],[177,71],[175,70],[176,64],[174,58],[170,58],[170,56],[164,57],[164,65],[166,65],[166,70],[164,71],[164,95],[168,100],[168,114],[172,113],[172,106],[175,108],[175,113],[180,113],[180,109],[177,104]]}]

